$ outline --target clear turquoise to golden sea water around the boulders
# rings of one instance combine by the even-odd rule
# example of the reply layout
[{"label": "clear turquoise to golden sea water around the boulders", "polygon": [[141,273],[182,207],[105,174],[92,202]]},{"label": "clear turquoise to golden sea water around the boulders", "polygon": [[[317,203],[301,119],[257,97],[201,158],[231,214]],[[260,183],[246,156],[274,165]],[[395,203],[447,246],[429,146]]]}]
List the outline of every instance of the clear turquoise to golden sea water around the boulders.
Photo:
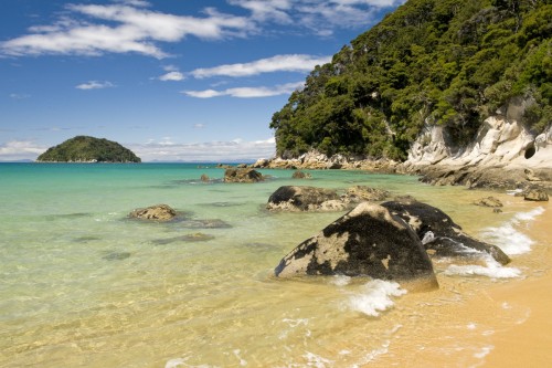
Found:
[{"label": "clear turquoise to golden sea water around the boulders", "polygon": [[[538,252],[529,229],[543,207],[408,176],[325,170],[298,181],[262,171],[270,178],[248,185],[222,182],[213,165],[0,164],[0,366],[407,366],[432,350],[467,367],[492,349],[486,336],[524,318],[488,301],[481,315],[450,320],[449,311],[545,267],[524,256]],[[276,278],[287,252],[343,213],[267,211],[284,185],[411,194],[514,262],[435,260],[433,292],[363,277]],[[471,204],[489,194],[506,202],[502,213]],[[157,203],[183,220],[128,219]],[[424,345],[437,330],[450,339]]]}]

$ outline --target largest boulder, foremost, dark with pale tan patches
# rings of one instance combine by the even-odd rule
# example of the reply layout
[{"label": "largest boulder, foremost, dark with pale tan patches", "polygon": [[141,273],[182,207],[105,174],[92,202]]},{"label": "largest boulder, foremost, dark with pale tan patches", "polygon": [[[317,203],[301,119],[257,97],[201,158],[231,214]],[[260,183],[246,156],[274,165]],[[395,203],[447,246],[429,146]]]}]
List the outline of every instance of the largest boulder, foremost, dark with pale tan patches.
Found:
[{"label": "largest boulder, foremost, dark with pale tan patches", "polygon": [[363,202],[299,244],[275,269],[276,276],[371,276],[422,280],[438,286],[432,262],[417,234],[399,215]]}]

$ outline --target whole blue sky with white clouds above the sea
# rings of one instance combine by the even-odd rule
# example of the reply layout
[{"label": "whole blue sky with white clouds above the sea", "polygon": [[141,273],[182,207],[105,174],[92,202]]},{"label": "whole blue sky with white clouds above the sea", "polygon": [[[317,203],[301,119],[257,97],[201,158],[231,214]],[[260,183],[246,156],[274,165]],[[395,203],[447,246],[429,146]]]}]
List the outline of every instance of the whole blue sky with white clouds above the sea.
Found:
[{"label": "whole blue sky with white clouds above the sea", "polygon": [[76,135],[145,161],[272,157],[272,115],[403,0],[2,0],[0,161]]}]

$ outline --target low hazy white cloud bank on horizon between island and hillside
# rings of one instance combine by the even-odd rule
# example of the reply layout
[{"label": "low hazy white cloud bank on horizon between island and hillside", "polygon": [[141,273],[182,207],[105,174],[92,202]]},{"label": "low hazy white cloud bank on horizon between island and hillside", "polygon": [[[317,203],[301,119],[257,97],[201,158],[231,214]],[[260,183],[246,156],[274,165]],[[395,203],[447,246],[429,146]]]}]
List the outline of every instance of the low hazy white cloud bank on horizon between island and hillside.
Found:
[{"label": "low hazy white cloud bank on horizon between island and hillside", "polygon": [[229,141],[209,141],[194,144],[166,145],[163,141],[150,140],[142,145],[127,145],[144,161],[219,161],[256,160],[275,155],[275,139],[246,141],[233,139]]}]

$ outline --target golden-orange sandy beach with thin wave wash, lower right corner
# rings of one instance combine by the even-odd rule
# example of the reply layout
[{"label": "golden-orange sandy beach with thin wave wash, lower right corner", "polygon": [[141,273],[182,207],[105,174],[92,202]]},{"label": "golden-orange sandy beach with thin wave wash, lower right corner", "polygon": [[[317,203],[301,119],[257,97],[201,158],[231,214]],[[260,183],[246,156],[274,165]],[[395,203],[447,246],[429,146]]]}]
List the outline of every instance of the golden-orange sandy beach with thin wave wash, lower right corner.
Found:
[{"label": "golden-orange sandy beach with thin wave wash, lower right corner", "polygon": [[518,211],[520,203],[523,211],[545,210],[523,229],[531,251],[508,265],[523,276],[481,286],[485,277],[437,273],[439,290],[401,298],[393,312],[401,327],[388,350],[362,367],[552,366],[552,206],[517,199],[509,206]]}]

